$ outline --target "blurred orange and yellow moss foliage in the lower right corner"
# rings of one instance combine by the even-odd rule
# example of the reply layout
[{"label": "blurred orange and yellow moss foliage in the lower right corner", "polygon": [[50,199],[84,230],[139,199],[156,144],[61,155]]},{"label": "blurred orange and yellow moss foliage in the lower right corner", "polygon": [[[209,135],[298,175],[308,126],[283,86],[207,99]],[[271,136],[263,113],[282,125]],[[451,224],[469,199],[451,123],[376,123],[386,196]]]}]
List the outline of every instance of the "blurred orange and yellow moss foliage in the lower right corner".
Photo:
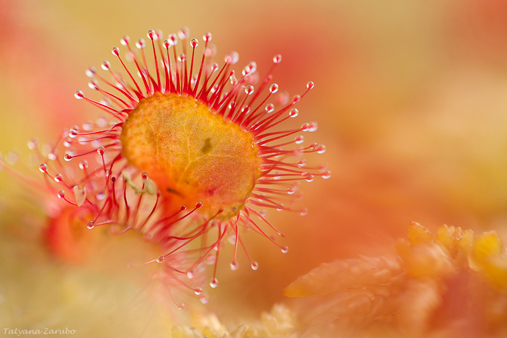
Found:
[{"label": "blurred orange and yellow moss foliage in the lower right corner", "polygon": [[300,312],[306,334],[507,333],[507,254],[495,232],[474,237],[444,225],[433,236],[412,222],[396,251],[394,260],[361,256],[322,264],[289,285],[289,297],[321,297],[318,310]]}]

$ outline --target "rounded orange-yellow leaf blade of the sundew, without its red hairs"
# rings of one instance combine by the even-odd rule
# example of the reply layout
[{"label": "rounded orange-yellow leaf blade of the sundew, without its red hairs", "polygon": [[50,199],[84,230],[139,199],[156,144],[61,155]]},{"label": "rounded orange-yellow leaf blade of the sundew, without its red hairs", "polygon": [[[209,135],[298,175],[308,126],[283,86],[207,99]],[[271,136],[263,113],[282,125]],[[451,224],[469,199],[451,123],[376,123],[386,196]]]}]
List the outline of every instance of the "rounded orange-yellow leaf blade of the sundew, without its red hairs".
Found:
[{"label": "rounded orange-yellow leaf blade of the sundew, without its red hairs", "polygon": [[253,135],[192,96],[155,93],[123,125],[122,155],[157,183],[164,203],[203,202],[209,217],[230,219],[243,208],[262,159]]}]

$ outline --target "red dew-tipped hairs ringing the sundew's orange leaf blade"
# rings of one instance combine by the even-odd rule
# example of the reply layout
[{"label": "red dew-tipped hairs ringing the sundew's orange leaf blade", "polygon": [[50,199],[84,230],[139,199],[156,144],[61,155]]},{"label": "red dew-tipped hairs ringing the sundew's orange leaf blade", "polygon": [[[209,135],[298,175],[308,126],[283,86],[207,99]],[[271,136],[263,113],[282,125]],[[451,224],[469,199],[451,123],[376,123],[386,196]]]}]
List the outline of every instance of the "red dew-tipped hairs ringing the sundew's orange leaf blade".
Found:
[{"label": "red dew-tipped hairs ringing the sundew's orange leaf blade", "polygon": [[[133,66],[128,67],[120,56],[120,49],[113,48],[112,53],[123,68],[123,76],[114,71],[108,61],[101,65],[107,75],[100,75],[93,67],[86,71],[87,76],[92,78],[89,87],[102,94],[103,99],[94,100],[82,91],[77,91],[75,96],[105,111],[109,119],[86,122],[81,128],[73,126],[63,132],[47,155],[49,161],[41,164],[40,170],[58,198],[75,208],[89,211],[91,216],[85,224],[88,229],[118,224],[123,227],[123,232],[140,232],[160,246],[160,256],[150,262],[169,264],[169,256],[188,252],[189,256],[196,258],[187,260],[186,267],[171,266],[174,273],[188,278],[193,278],[203,263],[211,262],[214,272],[210,285],[216,287],[216,262],[224,239],[229,239],[235,246],[232,270],[238,268],[238,244],[245,248],[240,238],[240,226],[265,236],[286,252],[287,247],[275,242],[276,235],[263,230],[270,228],[271,233],[274,231],[283,236],[265,218],[264,211],[258,208],[297,211],[304,215],[306,209],[294,210],[291,207],[301,197],[296,193],[299,181],[312,181],[315,175],[323,178],[331,176],[325,166],[310,168],[302,158],[304,153],[321,154],[325,151],[321,144],[302,145],[304,137],[300,133],[315,131],[316,122],[304,123],[301,128],[291,130],[278,127],[285,120],[298,116],[295,104],[314,85],[308,82],[302,95],[288,99],[286,95],[275,95],[278,85],[271,83],[272,72],[281,61],[280,55],[273,58],[273,66],[255,87],[259,80],[255,62],[249,62],[239,78],[234,70],[230,70],[238,61],[237,53],[228,53],[221,67],[212,63],[214,46],[210,44],[210,33],[203,36],[200,65],[194,61],[198,58],[197,39],[190,41],[192,50],[188,57],[188,29],[169,34],[163,42],[161,31],[150,30],[147,35],[151,44],[147,45],[143,39],[135,43],[140,55],[134,52],[128,36],[120,41],[126,47],[126,59],[133,62]],[[178,36],[183,45],[183,53],[179,55],[176,52]],[[153,61],[147,61],[145,49],[152,50]],[[232,208],[228,216],[224,216],[224,208],[215,208],[212,213],[202,212],[206,203],[198,197],[193,200],[195,204],[192,206],[173,205],[173,200],[166,198],[166,191],[160,189],[160,182],[151,179],[152,172],[144,172],[132,163],[135,161],[124,155],[126,144],[122,139],[122,129],[131,112],[150,98],[168,98],[170,95],[194,98],[209,109],[210,116],[220,116],[226,126],[239,127],[241,133],[250,135],[251,146],[257,147],[259,174],[253,175],[251,190],[244,202],[239,204],[239,210]],[[154,115],[158,113],[156,109],[151,112]],[[142,121],[136,123],[142,124]],[[61,152],[64,162],[60,161],[58,153],[62,145],[65,147],[65,151]],[[35,148],[33,142],[31,147]],[[240,154],[230,154],[231,157],[236,155]],[[221,175],[219,172],[216,174]],[[192,198],[188,197],[187,201]],[[212,229],[216,229],[216,235],[210,234]],[[246,249],[244,251],[246,253]],[[246,255],[251,268],[257,270],[258,263],[250,259],[248,253]],[[196,293],[200,292],[196,289]]]}]

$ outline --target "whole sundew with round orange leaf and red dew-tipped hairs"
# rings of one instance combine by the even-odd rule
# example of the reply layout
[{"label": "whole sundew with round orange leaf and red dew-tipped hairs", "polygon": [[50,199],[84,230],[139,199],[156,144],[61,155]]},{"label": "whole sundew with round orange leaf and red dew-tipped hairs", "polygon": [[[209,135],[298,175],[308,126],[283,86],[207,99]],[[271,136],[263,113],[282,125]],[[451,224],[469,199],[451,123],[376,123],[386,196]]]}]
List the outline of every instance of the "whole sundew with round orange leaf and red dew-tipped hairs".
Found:
[{"label": "whole sundew with round orange leaf and red dew-tipped hairs", "polygon": [[251,269],[259,268],[248,254],[245,231],[287,252],[279,243],[284,234],[265,210],[305,215],[305,208],[295,206],[300,182],[330,178],[331,172],[304,158],[325,152],[322,144],[305,144],[304,134],[316,131],[316,122],[284,128],[284,121],[300,115],[297,103],[314,84],[292,98],[279,94],[272,78],[281,55],[262,76],[253,61],[236,73],[236,52],[227,53],[222,64],[214,62],[211,33],[200,46],[188,28],[167,36],[149,30],[147,37],[148,43],[131,43],[123,36],[122,50],[112,49],[116,67],[104,61],[101,71],[86,70],[95,92],[79,90],[75,97],[101,109],[104,118],[84,117],[54,143],[41,147],[33,138],[28,147],[41,163],[42,178],[34,185],[59,199],[60,212],[46,232],[51,252],[79,259],[83,230],[135,232],[156,252],[143,265],[161,266],[152,279],[183,309],[174,286],[206,303],[205,267],[211,265],[209,285],[217,287],[226,240],[234,245],[232,270],[241,252]]}]

